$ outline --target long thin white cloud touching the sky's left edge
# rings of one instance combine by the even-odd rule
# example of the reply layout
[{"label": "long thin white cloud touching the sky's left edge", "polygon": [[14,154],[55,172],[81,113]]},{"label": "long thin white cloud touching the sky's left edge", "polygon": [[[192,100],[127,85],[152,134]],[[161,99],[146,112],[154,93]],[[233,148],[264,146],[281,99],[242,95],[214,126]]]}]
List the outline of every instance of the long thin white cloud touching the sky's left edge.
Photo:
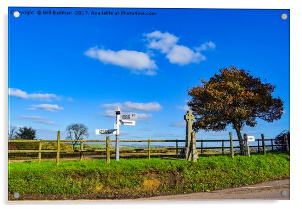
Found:
[{"label": "long thin white cloud touching the sky's left edge", "polygon": [[41,99],[41,100],[51,100],[51,99],[59,99],[59,97],[54,93],[27,93],[18,88],[9,88],[9,95],[16,96],[19,98],[25,99]]}]

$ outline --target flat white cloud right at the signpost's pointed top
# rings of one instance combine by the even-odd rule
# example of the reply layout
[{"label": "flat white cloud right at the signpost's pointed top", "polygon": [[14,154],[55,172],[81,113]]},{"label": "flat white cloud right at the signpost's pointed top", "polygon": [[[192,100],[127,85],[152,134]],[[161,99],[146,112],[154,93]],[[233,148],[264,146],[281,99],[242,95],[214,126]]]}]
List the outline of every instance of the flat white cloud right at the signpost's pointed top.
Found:
[{"label": "flat white cloud right at the signpost's pointed top", "polygon": [[160,111],[162,109],[162,106],[159,102],[147,102],[147,103],[142,103],[142,102],[131,102],[131,101],[126,101],[124,103],[107,103],[107,104],[102,104],[100,107],[105,108],[105,109],[113,109],[119,106],[121,111]]}]

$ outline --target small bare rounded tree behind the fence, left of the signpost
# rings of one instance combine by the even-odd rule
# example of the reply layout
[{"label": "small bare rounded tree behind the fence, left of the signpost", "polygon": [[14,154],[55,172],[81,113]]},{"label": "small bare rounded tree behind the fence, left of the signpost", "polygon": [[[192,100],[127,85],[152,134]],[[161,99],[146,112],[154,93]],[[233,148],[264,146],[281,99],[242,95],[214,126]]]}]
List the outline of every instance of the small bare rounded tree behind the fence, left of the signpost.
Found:
[{"label": "small bare rounded tree behind the fence, left of the signpost", "polygon": [[67,137],[66,139],[75,140],[72,142],[72,149],[77,144],[77,140],[83,140],[84,137],[89,137],[88,128],[83,124],[70,124],[66,127]]}]

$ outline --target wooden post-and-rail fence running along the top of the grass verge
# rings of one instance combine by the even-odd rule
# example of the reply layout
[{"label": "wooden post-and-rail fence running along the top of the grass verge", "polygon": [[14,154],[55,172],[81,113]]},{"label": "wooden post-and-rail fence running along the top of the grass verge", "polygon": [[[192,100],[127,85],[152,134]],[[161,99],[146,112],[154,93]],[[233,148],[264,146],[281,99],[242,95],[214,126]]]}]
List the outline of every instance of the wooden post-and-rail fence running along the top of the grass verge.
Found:
[{"label": "wooden post-and-rail fence running along the top of the grass verge", "polygon": [[[274,151],[274,147],[280,147],[282,145],[285,145],[287,149],[285,151],[289,151],[288,149],[288,144],[286,138],[284,138],[284,144],[274,144],[273,141],[274,139],[264,139],[264,135],[261,135],[261,139],[255,139],[257,142],[257,145],[252,145],[249,146],[249,148],[257,148],[258,153],[266,153],[266,147],[270,148],[269,150]],[[60,153],[80,153],[80,161],[83,160],[83,156],[85,152],[100,152],[100,151],[105,151],[106,152],[106,162],[109,163],[110,161],[110,143],[115,142],[115,140],[110,140],[109,137],[106,137],[106,140],[61,140],[60,139],[60,131],[58,131],[57,135],[57,140],[19,140],[19,139],[14,139],[14,140],[9,140],[9,143],[18,143],[18,142],[26,142],[26,143],[39,143],[39,149],[38,150],[9,150],[9,153],[38,153],[38,162],[41,162],[42,159],[42,153],[57,153],[56,154],[56,164],[58,165],[60,162]],[[56,142],[56,149],[44,149],[42,150],[42,143],[46,142]],[[60,143],[80,143],[80,148],[79,149],[61,149],[60,148]],[[186,142],[186,140],[120,140],[120,143],[147,143],[148,148],[142,148],[142,149],[136,149],[138,151],[146,151],[148,158],[152,155],[151,153],[157,153],[158,151],[174,151],[175,155],[177,157],[180,157],[181,150],[184,147],[180,147],[179,143],[181,142]],[[175,142],[175,147],[163,147],[163,148],[151,148],[152,143],[171,143]],[[221,147],[213,146],[213,147],[205,147],[205,143],[219,143],[221,142]],[[230,139],[229,140],[196,140],[197,145],[200,144],[200,147],[197,147],[197,150],[200,151],[200,155],[204,155],[204,152],[209,149],[215,149],[215,150],[220,150],[221,154],[227,154],[226,151],[229,151],[228,154],[231,155],[231,157],[234,157],[234,150],[240,148],[240,146],[233,146],[233,142],[239,142],[239,140],[233,140],[232,139],[232,133],[230,132]],[[266,143],[268,142],[268,143]],[[83,145],[84,143],[105,143],[106,144],[106,149],[84,149]],[[225,146],[226,143],[229,143],[229,146]],[[114,152],[111,150],[111,153]],[[145,154],[145,153],[141,153]],[[145,156],[145,155],[144,155]]]}]

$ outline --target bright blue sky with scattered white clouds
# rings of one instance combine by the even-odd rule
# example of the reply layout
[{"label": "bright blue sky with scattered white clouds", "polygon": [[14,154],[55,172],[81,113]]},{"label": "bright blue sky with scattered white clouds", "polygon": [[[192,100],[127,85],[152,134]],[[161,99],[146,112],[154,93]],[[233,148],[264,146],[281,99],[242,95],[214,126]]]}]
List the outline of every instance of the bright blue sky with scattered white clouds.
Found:
[{"label": "bright blue sky with scattered white clouds", "polygon": [[[276,85],[279,121],[243,133],[289,130],[289,10],[10,8],[10,125],[54,139],[71,123],[112,129],[113,110],[138,113],[121,139],[184,139],[187,89],[234,65]],[[156,12],[154,16],[37,15],[37,11]],[[11,12],[9,11],[9,14]],[[281,14],[288,19],[282,20]],[[228,131],[199,139],[227,139]],[[233,134],[235,132],[233,131]]]}]

